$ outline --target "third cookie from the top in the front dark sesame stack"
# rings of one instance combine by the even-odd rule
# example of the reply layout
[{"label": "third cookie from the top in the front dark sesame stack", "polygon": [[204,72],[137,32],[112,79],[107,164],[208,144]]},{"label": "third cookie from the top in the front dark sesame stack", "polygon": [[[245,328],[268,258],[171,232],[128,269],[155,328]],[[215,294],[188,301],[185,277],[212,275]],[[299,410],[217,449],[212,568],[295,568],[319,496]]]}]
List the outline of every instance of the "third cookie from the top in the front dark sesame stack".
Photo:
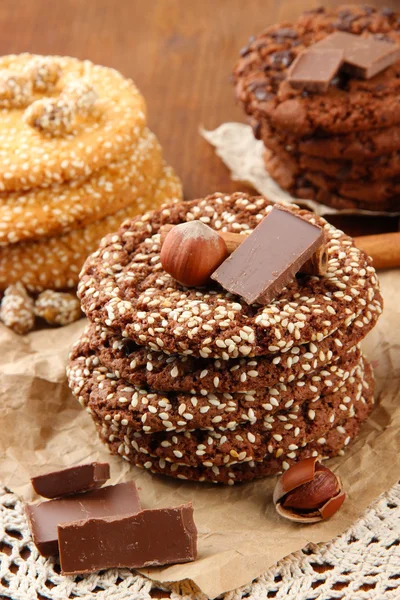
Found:
[{"label": "third cookie from the top in the front dark sesame stack", "polygon": [[[273,427],[275,431],[279,428],[279,422],[273,425],[276,419],[286,423],[285,429],[292,429],[296,423],[288,426],[290,417],[282,415],[298,414],[300,409],[314,420],[320,397],[336,393],[345,386],[359,371],[360,365],[363,368],[360,350],[355,347],[314,375],[291,383],[231,393],[181,393],[131,386],[118,372],[104,367],[95,355],[81,351],[71,359],[68,382],[83,406],[90,405],[103,417],[109,415],[108,420],[128,418],[129,426],[142,433],[197,429],[235,431],[244,424],[251,425],[255,433]],[[127,409],[129,417],[123,409]]]}]

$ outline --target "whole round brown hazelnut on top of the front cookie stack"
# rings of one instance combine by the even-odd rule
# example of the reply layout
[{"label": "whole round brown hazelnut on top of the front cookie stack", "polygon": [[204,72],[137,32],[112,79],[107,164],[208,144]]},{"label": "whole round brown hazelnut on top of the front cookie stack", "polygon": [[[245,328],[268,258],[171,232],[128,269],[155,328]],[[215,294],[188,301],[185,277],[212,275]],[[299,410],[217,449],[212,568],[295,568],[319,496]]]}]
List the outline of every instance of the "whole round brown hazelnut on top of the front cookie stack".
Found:
[{"label": "whole round brown hazelnut on top of the front cookie stack", "polygon": [[210,275],[228,257],[224,240],[201,221],[173,227],[161,248],[164,270],[182,285],[205,285]]}]

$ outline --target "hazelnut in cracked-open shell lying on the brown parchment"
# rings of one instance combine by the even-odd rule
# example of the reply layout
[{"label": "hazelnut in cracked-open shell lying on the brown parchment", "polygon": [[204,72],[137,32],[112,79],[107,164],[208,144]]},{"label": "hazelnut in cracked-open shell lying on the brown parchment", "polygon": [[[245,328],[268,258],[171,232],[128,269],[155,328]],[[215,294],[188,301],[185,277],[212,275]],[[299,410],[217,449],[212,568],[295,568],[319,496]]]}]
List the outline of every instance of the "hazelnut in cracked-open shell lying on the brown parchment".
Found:
[{"label": "hazelnut in cracked-open shell lying on the brown parchment", "polygon": [[329,519],[345,498],[340,478],[317,458],[301,460],[285,471],[273,496],[277,513],[299,523]]}]

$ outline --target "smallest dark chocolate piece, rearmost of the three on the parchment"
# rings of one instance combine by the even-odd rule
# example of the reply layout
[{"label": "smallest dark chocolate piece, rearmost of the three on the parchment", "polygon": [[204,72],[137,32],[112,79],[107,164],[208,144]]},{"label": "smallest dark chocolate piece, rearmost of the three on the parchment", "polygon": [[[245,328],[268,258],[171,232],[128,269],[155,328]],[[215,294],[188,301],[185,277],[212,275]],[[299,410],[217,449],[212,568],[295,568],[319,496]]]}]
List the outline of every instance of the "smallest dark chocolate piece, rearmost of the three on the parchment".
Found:
[{"label": "smallest dark chocolate piece, rearmost of the three on the parchment", "polygon": [[96,490],[110,479],[108,463],[88,463],[31,478],[33,489],[44,498],[61,498]]}]

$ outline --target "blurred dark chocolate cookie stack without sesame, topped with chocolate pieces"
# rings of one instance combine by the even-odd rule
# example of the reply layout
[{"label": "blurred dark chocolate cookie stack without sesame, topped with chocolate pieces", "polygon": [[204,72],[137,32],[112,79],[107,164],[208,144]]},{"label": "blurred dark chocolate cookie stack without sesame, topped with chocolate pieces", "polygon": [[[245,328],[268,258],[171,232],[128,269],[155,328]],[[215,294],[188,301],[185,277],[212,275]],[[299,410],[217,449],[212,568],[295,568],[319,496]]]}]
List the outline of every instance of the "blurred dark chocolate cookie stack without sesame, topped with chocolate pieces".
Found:
[{"label": "blurred dark chocolate cookie stack without sesame, topped with chocolate pieces", "polygon": [[[343,56],[329,73],[333,50]],[[306,53],[314,60],[299,69]],[[400,14],[389,8],[318,8],[250,40],[236,96],[282,188],[339,209],[400,211],[399,59]]]}]

